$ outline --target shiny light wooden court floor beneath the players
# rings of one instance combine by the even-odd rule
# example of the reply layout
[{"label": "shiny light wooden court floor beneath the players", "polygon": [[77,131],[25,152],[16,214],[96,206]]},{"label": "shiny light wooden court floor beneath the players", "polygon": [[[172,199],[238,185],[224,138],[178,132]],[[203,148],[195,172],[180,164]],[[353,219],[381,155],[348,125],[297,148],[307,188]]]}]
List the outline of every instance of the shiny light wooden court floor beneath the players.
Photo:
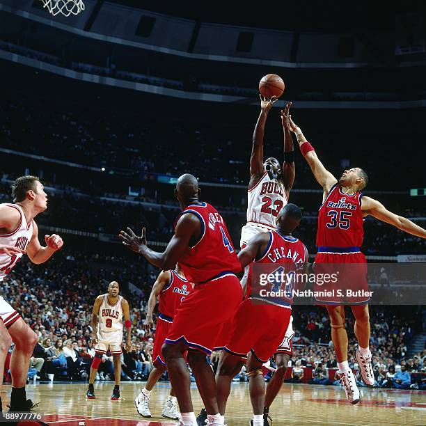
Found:
[{"label": "shiny light wooden court floor beneath the players", "polygon": [[[151,419],[139,416],[134,398],[143,382],[121,384],[121,400],[111,401],[112,382],[95,382],[96,400],[86,400],[85,383],[29,384],[26,394],[33,402],[40,402],[37,411],[45,414],[50,425],[77,426],[171,426],[174,420],[161,418],[170,384],[161,381],[152,390]],[[202,402],[192,384],[196,413]],[[3,386],[3,407],[10,399],[10,386]],[[426,425],[426,391],[381,390],[363,388],[363,399],[355,406],[347,403],[345,393],[337,386],[284,384],[270,410],[276,425]],[[252,418],[248,384],[234,382],[228,408],[228,426],[249,424]],[[5,423],[6,425],[6,423]]]}]

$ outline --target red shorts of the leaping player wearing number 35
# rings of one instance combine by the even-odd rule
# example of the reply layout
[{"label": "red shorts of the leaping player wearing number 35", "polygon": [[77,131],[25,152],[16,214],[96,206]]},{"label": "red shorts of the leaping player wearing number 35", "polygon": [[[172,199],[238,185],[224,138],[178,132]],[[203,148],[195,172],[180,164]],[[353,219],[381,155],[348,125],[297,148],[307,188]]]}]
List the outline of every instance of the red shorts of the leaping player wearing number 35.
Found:
[{"label": "red shorts of the leaping player wearing number 35", "polygon": [[[314,291],[319,304],[364,305],[370,301],[367,261],[363,253],[317,253],[315,257]],[[319,281],[319,275],[335,274],[336,282]]]}]

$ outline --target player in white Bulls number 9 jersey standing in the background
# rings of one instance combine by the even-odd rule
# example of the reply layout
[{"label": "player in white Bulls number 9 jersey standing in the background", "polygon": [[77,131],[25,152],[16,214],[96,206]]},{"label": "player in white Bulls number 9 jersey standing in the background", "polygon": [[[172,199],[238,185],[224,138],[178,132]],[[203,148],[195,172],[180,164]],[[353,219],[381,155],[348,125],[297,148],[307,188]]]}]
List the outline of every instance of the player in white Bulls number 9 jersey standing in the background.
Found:
[{"label": "player in white Bulls number 9 jersey standing in the background", "polygon": [[120,296],[117,281],[111,281],[108,293],[101,294],[95,300],[92,312],[92,339],[95,343],[95,356],[90,366],[89,385],[86,392],[88,400],[95,399],[95,377],[102,361],[102,356],[109,350],[113,356],[115,386],[111,400],[120,399],[121,379],[121,345],[123,344],[123,316],[125,317],[126,350],[132,348],[132,322],[130,321],[129,303]]}]

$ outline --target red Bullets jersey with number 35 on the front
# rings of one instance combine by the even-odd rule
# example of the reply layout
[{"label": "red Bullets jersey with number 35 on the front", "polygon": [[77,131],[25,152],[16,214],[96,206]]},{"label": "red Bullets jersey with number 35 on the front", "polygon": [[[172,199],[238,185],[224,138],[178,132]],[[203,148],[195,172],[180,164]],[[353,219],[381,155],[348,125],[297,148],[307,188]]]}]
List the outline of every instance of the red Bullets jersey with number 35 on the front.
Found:
[{"label": "red Bullets jersey with number 35 on the front", "polygon": [[319,252],[330,252],[333,248],[337,248],[335,251],[338,253],[342,253],[341,248],[347,248],[348,253],[359,251],[364,236],[362,196],[362,192],[345,194],[339,184],[330,189],[329,195],[319,207],[317,230]]}]

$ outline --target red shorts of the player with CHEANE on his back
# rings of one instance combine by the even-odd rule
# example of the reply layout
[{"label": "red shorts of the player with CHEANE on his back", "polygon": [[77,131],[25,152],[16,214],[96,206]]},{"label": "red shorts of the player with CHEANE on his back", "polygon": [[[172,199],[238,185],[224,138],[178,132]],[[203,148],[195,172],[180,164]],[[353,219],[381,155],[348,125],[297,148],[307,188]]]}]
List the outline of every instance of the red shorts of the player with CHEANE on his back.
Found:
[{"label": "red shorts of the player with CHEANE on his back", "polygon": [[244,300],[235,313],[226,352],[244,357],[251,351],[266,363],[283,342],[291,315],[290,308]]}]

